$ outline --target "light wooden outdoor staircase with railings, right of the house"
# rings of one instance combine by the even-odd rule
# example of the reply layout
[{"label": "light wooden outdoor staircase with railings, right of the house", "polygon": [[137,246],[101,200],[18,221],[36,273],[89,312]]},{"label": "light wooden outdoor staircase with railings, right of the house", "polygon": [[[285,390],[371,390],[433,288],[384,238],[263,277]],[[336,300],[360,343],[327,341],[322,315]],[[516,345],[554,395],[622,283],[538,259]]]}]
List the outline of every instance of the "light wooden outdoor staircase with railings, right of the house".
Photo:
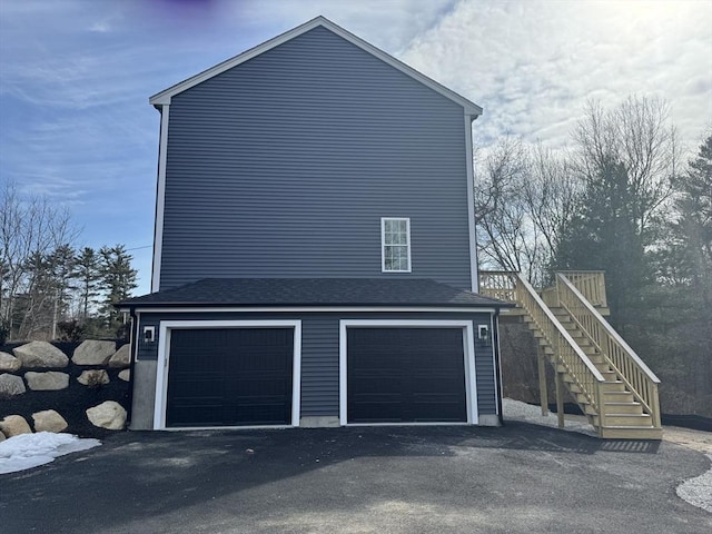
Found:
[{"label": "light wooden outdoor staircase with railings, right of the house", "polygon": [[557,273],[536,291],[518,273],[482,271],[481,293],[516,304],[540,345],[542,412],[547,406],[544,366],[556,379],[558,425],[568,389],[602,438],[661,439],[660,380],[609,325],[601,271]]}]

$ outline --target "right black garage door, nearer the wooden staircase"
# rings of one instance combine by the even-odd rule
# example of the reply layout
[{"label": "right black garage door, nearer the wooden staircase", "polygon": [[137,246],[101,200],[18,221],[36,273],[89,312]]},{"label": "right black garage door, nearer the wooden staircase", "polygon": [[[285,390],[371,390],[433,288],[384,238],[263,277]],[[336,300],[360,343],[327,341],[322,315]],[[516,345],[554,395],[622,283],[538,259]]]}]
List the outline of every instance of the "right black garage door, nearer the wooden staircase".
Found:
[{"label": "right black garage door, nearer the wooden staircase", "polygon": [[462,328],[347,328],[347,422],[466,422]]}]

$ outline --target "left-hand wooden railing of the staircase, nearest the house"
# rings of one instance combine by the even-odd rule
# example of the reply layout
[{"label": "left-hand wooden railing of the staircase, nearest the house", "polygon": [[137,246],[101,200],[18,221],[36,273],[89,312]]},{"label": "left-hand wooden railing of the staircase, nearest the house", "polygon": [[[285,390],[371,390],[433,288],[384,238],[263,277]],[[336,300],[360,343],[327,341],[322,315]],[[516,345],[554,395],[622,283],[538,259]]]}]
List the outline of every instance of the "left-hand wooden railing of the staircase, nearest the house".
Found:
[{"label": "left-hand wooden railing of the staircase, nearest the house", "polygon": [[526,310],[553,349],[555,363],[561,365],[599,415],[599,427],[605,426],[603,383],[601,372],[578,347],[536,290],[518,273],[482,271],[479,291],[483,295],[516,303]]}]

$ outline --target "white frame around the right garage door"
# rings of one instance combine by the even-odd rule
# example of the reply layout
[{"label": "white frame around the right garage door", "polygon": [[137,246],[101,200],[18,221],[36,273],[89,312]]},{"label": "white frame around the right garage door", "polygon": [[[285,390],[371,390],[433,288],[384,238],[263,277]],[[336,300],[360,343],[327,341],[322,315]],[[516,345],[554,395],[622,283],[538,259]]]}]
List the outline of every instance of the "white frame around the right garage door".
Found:
[{"label": "white frame around the right garage door", "polygon": [[348,390],[347,390],[347,358],[348,328],[462,328],[463,354],[465,358],[465,403],[467,407],[467,423],[476,425],[477,416],[477,384],[475,376],[475,343],[472,320],[447,319],[342,319],[339,320],[339,422],[342,426],[366,425],[441,425],[464,423],[348,423]]}]

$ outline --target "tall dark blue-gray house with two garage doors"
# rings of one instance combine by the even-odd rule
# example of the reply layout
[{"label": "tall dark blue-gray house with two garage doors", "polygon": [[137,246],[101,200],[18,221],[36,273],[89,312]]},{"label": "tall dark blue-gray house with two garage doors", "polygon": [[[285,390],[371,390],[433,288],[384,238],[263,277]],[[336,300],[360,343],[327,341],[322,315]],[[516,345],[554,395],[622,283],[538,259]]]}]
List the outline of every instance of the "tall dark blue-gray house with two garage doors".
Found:
[{"label": "tall dark blue-gray house with two garage doors", "polygon": [[477,105],[322,17],[150,103],[131,428],[501,423]]}]

